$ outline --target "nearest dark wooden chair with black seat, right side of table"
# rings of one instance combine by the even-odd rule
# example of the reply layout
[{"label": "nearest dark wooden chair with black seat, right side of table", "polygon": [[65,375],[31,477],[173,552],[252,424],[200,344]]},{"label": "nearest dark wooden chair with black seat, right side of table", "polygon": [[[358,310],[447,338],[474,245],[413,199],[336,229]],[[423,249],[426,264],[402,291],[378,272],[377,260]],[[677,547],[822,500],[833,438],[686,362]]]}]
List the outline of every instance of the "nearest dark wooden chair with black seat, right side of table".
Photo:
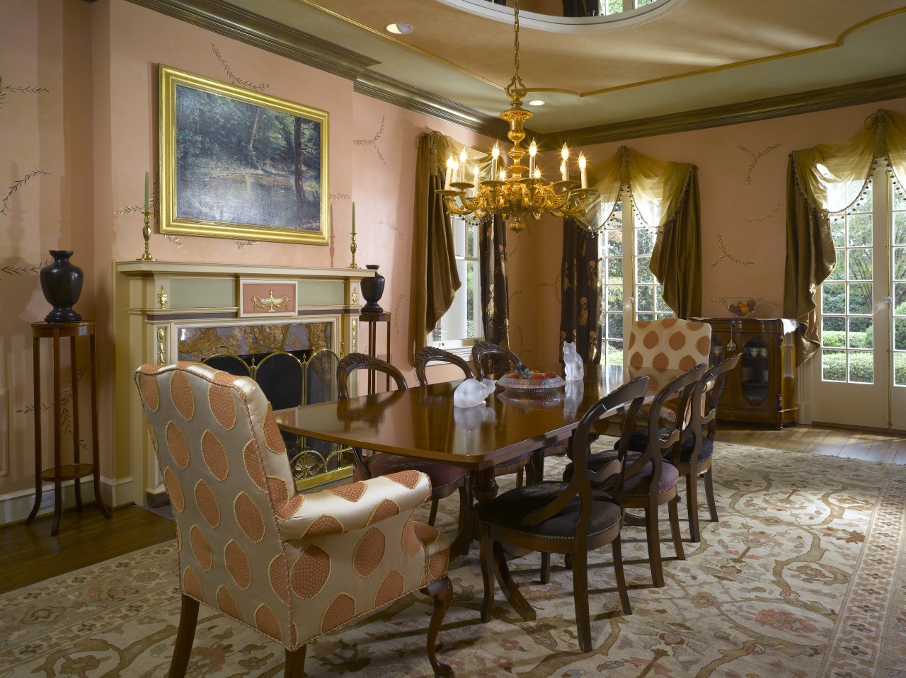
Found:
[{"label": "nearest dark wooden chair with black seat, right side of table", "polygon": [[[640,377],[603,397],[585,412],[573,434],[573,473],[568,481],[542,480],[525,488],[510,489],[495,499],[479,504],[481,526],[481,575],[485,597],[481,603],[481,620],[487,622],[494,603],[494,570],[516,612],[528,620],[534,610],[525,602],[506,565],[502,544],[540,551],[562,553],[572,557],[573,600],[579,646],[592,650],[592,632],[588,612],[588,551],[611,545],[613,570],[624,615],[632,608],[622,569],[620,528],[622,526],[622,461],[613,459],[599,470],[589,469],[587,460],[594,421],[620,412],[624,407],[635,414],[644,401],[648,377]],[[625,419],[624,421],[632,421]],[[631,431],[625,424],[628,442]],[[623,455],[624,456],[624,455]],[[593,484],[606,485],[608,492],[594,491]]]}]

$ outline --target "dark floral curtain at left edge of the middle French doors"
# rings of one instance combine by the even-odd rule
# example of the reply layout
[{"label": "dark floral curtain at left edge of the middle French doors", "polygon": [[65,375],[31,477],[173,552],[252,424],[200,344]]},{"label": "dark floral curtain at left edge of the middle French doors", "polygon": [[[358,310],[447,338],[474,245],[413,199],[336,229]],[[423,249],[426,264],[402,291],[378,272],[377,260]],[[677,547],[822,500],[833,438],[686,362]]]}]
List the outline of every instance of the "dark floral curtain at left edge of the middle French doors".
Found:
[{"label": "dark floral curtain at left edge of the middle French doors", "polygon": [[[583,363],[601,363],[601,259],[598,234],[564,218],[560,350],[574,342]],[[563,355],[561,354],[561,359]]]}]

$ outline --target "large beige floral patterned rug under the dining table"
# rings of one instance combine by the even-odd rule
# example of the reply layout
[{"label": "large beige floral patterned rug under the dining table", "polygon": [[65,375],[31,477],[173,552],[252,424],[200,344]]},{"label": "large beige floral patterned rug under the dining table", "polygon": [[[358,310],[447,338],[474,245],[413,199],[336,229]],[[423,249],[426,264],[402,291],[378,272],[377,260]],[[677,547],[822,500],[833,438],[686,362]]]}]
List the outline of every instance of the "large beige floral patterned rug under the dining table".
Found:
[{"label": "large beige floral patterned rug under the dining table", "polygon": [[[558,461],[548,460],[548,477]],[[440,656],[465,676],[906,675],[906,468],[718,445],[719,523],[651,587],[641,528],[626,528],[633,615],[619,613],[610,551],[590,567],[595,650],[578,651],[572,578],[554,557],[514,563],[537,610],[524,623],[497,591],[478,619],[477,548],[453,563]],[[439,527],[454,524],[451,499]],[[682,510],[681,510],[682,514]],[[446,521],[446,522],[442,522]],[[664,538],[668,537],[666,524]],[[178,624],[173,544],[0,596],[0,678],[167,675]],[[672,557],[672,547],[664,547]],[[308,648],[309,675],[427,676],[429,601],[410,597]],[[281,647],[202,606],[189,675],[279,676]]]}]

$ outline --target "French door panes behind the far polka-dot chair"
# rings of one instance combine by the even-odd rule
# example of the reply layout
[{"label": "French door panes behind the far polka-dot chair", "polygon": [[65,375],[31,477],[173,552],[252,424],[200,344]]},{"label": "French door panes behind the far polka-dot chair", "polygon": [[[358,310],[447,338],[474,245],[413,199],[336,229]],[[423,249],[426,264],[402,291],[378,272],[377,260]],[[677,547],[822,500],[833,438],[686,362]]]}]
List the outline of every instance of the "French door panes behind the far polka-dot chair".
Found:
[{"label": "French door panes behind the far polka-dot chair", "polygon": [[[622,365],[624,327],[639,320],[673,316],[651,273],[651,252],[658,236],[656,225],[660,204],[653,201],[638,205],[644,221],[635,214],[628,200],[617,203],[612,217],[601,229],[600,247],[604,279],[602,285],[602,363]],[[630,248],[623,247],[631,243]]]}]

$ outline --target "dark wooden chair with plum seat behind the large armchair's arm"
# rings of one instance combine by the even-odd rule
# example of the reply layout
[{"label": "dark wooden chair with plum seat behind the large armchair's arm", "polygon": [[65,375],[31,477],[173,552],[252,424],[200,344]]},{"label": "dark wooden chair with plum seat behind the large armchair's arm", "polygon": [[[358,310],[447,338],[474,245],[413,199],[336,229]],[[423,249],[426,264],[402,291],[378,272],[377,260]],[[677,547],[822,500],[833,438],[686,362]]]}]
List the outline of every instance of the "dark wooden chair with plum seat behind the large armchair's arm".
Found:
[{"label": "dark wooden chair with plum seat behind the large armchair's arm", "polygon": [[[396,384],[398,391],[409,387],[406,378],[390,363],[368,354],[346,354],[337,363],[337,391],[340,400],[349,398],[349,378],[357,370],[366,372],[381,372],[390,376]],[[431,479],[431,512],[428,523],[433,527],[438,514],[438,501],[446,499],[455,491],[459,491],[459,521],[458,529],[462,531],[466,520],[471,515],[472,492],[468,483],[468,470],[460,469],[440,461],[417,460],[401,454],[390,452],[373,452],[365,455],[359,448],[352,448],[354,452],[355,469],[353,479],[369,479],[397,473],[400,470],[420,470]]]}]

